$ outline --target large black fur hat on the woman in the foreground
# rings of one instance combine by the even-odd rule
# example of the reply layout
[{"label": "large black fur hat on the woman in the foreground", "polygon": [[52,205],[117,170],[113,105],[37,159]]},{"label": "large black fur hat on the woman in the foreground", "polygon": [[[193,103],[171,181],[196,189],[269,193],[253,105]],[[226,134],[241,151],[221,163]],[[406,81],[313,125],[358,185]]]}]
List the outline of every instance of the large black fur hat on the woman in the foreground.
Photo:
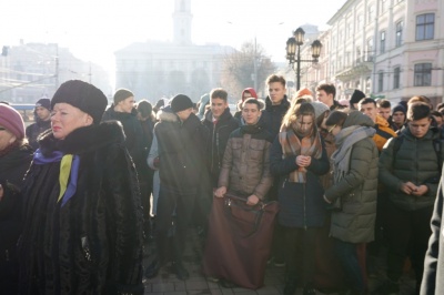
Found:
[{"label": "large black fur hat on the woman in the foreground", "polygon": [[70,80],[61,84],[51,100],[51,109],[56,103],[62,102],[91,115],[94,124],[100,123],[108,104],[107,96],[100,89],[80,80]]}]

